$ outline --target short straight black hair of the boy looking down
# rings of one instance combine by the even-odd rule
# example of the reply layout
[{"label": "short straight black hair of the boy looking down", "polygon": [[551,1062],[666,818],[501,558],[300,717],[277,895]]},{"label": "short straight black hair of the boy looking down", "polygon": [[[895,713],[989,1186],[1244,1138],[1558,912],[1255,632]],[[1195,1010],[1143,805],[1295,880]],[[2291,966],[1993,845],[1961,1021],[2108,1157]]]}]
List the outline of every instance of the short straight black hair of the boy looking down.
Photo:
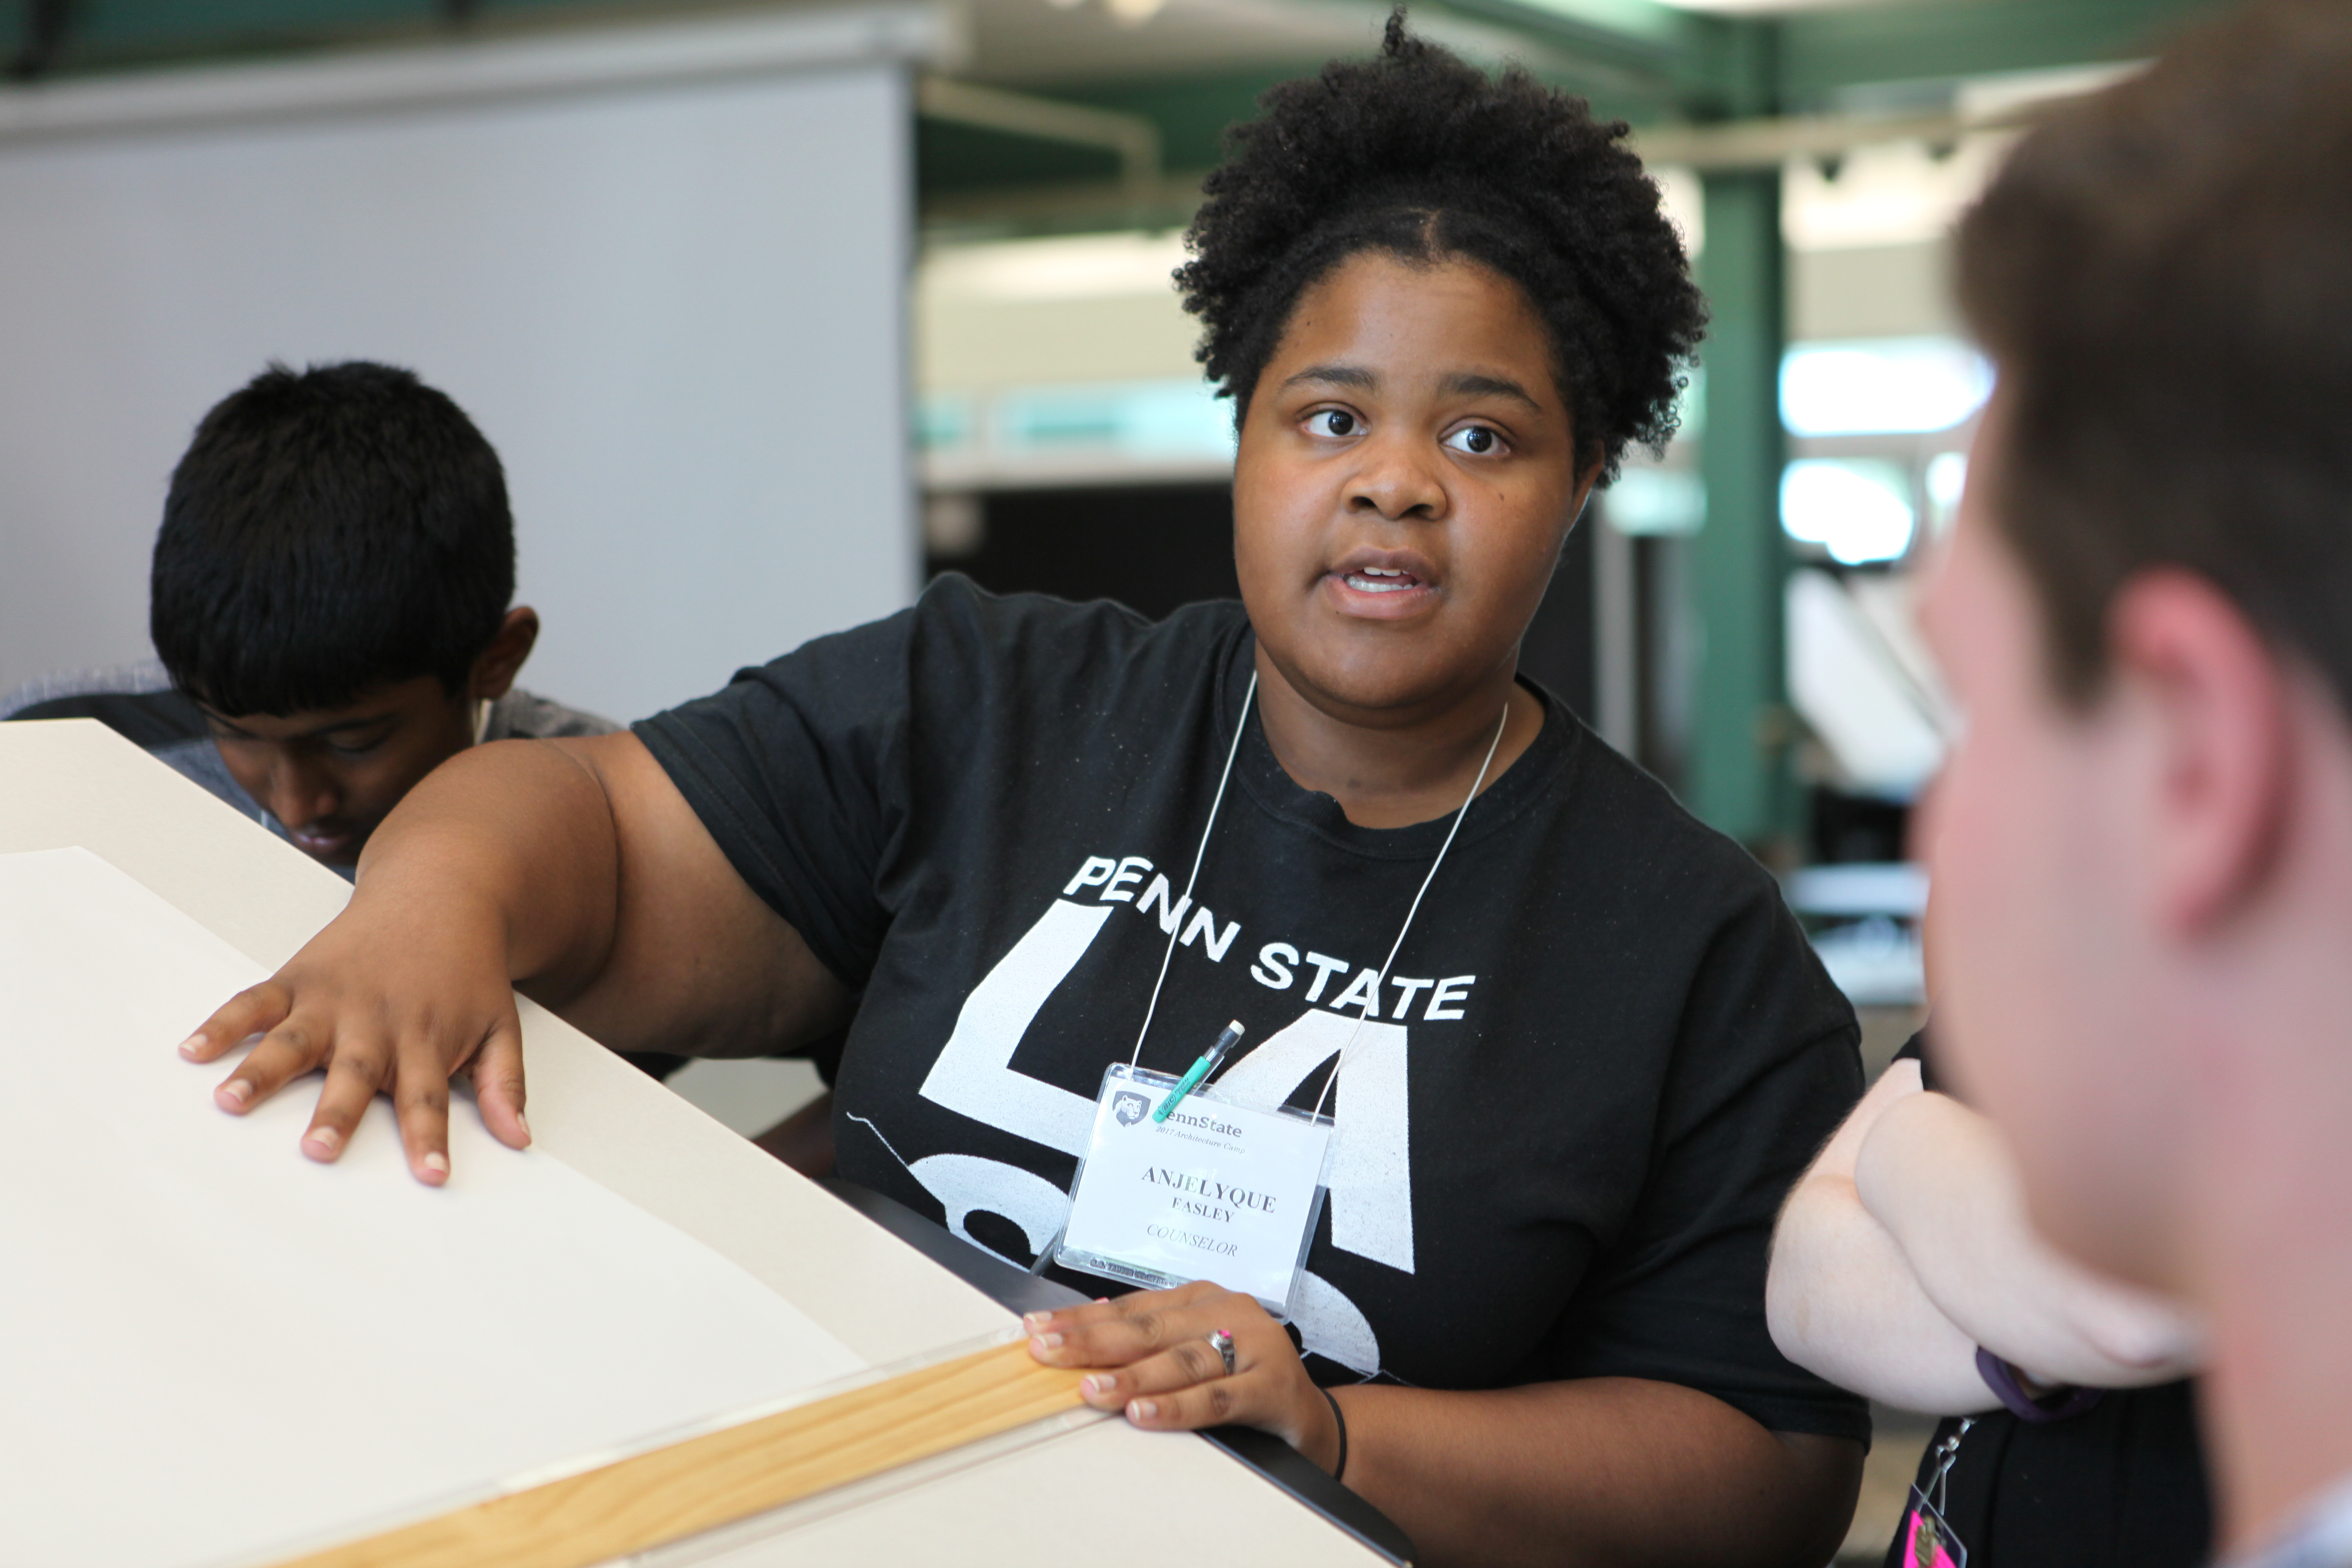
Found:
[{"label": "short straight black hair of the boy looking down", "polygon": [[499,454],[414,371],[270,364],[172,470],[148,630],[221,715],[343,708],[433,675],[456,696],[515,597]]}]

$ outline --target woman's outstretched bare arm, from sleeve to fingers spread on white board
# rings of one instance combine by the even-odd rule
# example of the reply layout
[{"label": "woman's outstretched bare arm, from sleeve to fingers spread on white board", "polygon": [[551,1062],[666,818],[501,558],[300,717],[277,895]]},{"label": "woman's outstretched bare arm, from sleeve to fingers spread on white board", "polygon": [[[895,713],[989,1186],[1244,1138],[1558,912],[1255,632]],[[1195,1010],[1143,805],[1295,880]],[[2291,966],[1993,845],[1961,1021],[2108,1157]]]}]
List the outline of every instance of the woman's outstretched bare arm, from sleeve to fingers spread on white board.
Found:
[{"label": "woman's outstretched bare arm, from sleeve to fingers spread on white board", "polygon": [[233,1114],[325,1070],[301,1140],[322,1161],[390,1095],[409,1171],[437,1187],[459,1072],[499,1143],[532,1143],[515,985],[614,1051],[764,1056],[854,1009],[621,731],[492,741],[433,769],[369,837],[350,905],[181,1056],[261,1037],[214,1091]]}]

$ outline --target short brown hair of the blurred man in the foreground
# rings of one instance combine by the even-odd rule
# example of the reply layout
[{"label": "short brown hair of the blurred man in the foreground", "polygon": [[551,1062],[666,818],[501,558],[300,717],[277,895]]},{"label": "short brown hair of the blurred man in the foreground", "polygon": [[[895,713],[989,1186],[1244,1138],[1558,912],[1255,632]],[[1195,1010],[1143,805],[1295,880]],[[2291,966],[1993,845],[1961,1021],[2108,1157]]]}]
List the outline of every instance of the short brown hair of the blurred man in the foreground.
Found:
[{"label": "short brown hair of the blurred man in the foreground", "polygon": [[2352,2],[2237,9],[2034,129],[1959,230],[1994,515],[2086,703],[2114,592],[2227,592],[2352,710]]}]

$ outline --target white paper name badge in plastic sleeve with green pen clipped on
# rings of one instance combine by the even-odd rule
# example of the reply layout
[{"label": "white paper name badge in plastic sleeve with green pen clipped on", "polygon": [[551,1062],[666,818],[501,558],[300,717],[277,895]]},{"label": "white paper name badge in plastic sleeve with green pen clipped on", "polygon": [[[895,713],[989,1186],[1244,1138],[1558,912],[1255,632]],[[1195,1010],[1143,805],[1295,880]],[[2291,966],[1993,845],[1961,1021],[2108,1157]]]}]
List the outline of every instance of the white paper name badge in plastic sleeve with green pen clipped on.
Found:
[{"label": "white paper name badge in plastic sleeve with green pen clipped on", "polygon": [[1054,1260],[1145,1288],[1207,1279],[1287,1316],[1324,1201],[1331,1119],[1185,1095],[1164,1072],[1112,1063],[1070,1187]]}]

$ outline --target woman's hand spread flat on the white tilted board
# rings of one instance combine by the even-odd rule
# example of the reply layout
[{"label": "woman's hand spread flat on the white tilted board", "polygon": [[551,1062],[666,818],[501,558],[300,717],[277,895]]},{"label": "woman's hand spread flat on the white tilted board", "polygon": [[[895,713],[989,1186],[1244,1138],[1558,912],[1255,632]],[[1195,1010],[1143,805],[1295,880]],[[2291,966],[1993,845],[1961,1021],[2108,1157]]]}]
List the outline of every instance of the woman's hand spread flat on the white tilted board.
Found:
[{"label": "woman's hand spread flat on the white tilted board", "polygon": [[212,1091],[240,1117],[325,1070],[301,1138],[301,1152],[318,1161],[336,1159],[367,1105],[390,1095],[409,1171],[437,1187],[449,1180],[449,1079],[459,1072],[473,1074],[482,1124],[499,1143],[532,1143],[503,922],[463,898],[437,898],[428,910],[393,889],[369,893],[275,976],[230,997],[179,1053],[214,1063],[259,1037]]}]

